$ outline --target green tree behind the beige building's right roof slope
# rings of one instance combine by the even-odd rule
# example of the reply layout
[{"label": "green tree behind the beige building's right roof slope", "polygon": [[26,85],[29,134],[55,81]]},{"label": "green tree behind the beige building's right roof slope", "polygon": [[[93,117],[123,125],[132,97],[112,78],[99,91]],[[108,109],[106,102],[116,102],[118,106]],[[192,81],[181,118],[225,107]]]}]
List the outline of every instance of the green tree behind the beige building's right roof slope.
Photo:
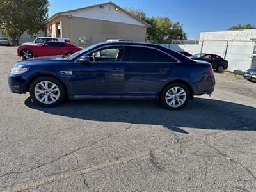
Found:
[{"label": "green tree behind the beige building's right roof slope", "polygon": [[132,15],[151,25],[147,28],[147,40],[150,42],[170,42],[171,40],[186,40],[187,34],[180,22],[172,22],[168,17],[147,17],[142,10],[126,9]]}]

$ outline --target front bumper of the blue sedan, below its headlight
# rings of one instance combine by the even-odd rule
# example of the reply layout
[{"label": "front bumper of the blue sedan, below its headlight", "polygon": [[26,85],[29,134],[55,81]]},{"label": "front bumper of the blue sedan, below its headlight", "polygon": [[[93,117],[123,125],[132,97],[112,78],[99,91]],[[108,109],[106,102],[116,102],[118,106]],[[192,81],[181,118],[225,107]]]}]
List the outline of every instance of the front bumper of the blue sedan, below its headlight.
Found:
[{"label": "front bumper of the blue sedan, below its headlight", "polygon": [[12,93],[26,93],[25,81],[21,75],[9,74],[8,84]]}]

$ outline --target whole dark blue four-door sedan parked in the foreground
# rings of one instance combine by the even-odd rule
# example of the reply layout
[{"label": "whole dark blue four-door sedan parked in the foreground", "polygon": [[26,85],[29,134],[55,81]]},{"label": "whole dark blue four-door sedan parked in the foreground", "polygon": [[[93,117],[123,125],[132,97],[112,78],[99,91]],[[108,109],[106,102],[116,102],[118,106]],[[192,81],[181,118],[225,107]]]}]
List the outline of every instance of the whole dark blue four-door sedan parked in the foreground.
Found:
[{"label": "whole dark blue four-door sedan parked in the foreground", "polygon": [[161,45],[104,42],[70,56],[19,61],[8,77],[13,93],[30,92],[42,106],[92,97],[154,97],[169,109],[184,107],[194,95],[214,91],[209,63]]}]

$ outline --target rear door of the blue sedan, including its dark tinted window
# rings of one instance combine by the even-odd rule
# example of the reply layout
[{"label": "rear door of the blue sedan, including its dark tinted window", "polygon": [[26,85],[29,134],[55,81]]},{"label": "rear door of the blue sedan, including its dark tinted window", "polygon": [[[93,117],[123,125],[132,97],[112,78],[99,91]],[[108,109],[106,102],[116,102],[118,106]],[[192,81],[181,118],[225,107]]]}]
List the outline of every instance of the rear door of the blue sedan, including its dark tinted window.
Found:
[{"label": "rear door of the blue sedan, including its dark tinted window", "polygon": [[125,65],[124,94],[156,95],[170,77],[174,59],[149,47],[131,46],[129,55],[129,62]]}]

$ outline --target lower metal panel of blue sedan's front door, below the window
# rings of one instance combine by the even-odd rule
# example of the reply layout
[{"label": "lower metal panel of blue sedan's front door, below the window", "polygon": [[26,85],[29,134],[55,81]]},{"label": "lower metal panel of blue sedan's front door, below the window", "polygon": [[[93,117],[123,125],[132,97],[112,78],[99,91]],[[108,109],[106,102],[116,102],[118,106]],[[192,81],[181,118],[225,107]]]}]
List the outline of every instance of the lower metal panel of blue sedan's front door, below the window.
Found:
[{"label": "lower metal panel of blue sedan's front door, below the window", "polygon": [[124,63],[75,63],[73,84],[75,95],[115,95],[124,83]]}]

